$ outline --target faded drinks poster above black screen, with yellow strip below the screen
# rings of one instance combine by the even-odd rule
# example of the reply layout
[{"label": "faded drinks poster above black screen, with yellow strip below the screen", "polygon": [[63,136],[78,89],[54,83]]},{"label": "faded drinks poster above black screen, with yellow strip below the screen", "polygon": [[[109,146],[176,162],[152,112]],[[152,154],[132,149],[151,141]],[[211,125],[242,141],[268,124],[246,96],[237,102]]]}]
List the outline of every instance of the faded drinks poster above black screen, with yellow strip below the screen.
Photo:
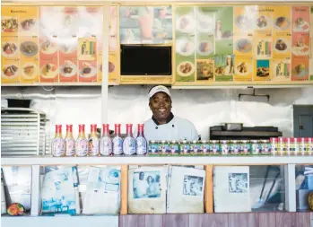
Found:
[{"label": "faded drinks poster above black screen, with yellow strip below the screen", "polygon": [[[170,45],[172,43],[172,6],[120,6],[119,43]],[[121,75],[120,83],[172,83],[171,75]]]}]

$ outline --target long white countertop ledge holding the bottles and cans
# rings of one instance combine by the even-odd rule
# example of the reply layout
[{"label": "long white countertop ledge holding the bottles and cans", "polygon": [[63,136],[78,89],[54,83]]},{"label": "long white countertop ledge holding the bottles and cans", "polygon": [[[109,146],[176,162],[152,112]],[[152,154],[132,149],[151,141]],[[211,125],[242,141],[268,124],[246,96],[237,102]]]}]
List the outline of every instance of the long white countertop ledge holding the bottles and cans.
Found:
[{"label": "long white countertop ledge holding the bottles and cans", "polygon": [[272,165],[272,164],[309,164],[313,163],[313,156],[112,156],[112,157],[3,157],[3,166],[30,165],[135,165],[135,164],[182,164],[182,165]]}]

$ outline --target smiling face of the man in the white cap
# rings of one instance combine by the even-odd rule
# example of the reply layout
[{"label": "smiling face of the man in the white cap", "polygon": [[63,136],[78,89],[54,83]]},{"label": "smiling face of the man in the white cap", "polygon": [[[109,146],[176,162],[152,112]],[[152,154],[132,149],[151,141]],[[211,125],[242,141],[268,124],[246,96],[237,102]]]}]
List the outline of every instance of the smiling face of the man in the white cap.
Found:
[{"label": "smiling face of the man in the white cap", "polygon": [[165,120],[170,116],[171,111],[170,96],[164,92],[154,94],[149,102],[149,107],[152,110],[153,117],[165,124]]}]

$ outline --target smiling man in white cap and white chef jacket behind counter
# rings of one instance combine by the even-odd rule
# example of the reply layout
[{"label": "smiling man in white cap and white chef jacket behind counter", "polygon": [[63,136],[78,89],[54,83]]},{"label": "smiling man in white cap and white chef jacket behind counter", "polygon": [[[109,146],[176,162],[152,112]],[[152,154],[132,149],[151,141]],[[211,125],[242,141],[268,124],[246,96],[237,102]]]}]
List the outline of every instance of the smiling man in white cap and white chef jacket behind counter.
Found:
[{"label": "smiling man in white cap and white chef jacket behind counter", "polygon": [[144,136],[149,140],[198,140],[196,127],[171,112],[170,91],[165,86],[152,87],[149,92],[152,118],[144,122]]}]

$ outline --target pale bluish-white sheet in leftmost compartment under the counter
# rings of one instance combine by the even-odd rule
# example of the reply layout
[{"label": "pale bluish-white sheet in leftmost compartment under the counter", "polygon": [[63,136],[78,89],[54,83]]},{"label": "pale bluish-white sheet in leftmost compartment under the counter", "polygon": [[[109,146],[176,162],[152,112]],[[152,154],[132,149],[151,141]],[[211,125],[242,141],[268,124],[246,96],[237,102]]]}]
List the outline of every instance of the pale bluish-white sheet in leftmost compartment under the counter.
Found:
[{"label": "pale bluish-white sheet in leftmost compartment under the counter", "polygon": [[6,205],[22,204],[30,211],[31,200],[31,167],[10,166],[3,167],[5,187],[7,191]]}]

